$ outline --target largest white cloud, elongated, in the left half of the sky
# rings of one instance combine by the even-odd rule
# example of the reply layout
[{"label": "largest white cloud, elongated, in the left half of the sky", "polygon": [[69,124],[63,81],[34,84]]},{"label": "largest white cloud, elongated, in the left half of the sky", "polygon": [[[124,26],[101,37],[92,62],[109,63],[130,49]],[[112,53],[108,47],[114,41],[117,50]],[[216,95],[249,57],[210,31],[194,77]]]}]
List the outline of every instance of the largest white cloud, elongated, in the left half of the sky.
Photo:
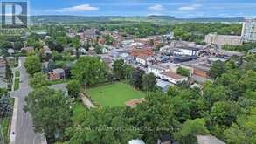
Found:
[{"label": "largest white cloud, elongated, in the left half of the sky", "polygon": [[62,8],[59,11],[62,12],[81,12],[81,11],[96,11],[99,10],[98,7],[93,7],[90,4],[81,4],[73,7]]}]

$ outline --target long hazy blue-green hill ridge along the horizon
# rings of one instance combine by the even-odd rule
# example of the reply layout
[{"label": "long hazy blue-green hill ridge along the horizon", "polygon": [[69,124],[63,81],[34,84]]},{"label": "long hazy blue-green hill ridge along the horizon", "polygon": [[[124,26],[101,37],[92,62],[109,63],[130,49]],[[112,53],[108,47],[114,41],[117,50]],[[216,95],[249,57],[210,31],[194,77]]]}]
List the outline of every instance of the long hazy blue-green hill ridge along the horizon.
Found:
[{"label": "long hazy blue-green hill ridge along the horizon", "polygon": [[242,22],[243,17],[233,18],[176,18],[172,16],[156,16],[150,15],[148,17],[121,17],[121,16],[68,16],[68,15],[44,15],[44,16],[31,16],[31,22],[37,23],[86,23],[86,22],[111,22],[111,21],[130,21],[130,22]]}]

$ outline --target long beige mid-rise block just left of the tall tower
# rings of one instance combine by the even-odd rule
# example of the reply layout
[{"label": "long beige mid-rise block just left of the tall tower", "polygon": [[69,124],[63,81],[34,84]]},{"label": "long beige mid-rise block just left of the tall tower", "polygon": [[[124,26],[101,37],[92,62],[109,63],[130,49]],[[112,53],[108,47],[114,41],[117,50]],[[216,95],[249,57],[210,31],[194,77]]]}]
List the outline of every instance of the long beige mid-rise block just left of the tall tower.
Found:
[{"label": "long beige mid-rise block just left of the tall tower", "polygon": [[218,35],[210,33],[205,36],[204,42],[208,45],[242,45],[241,36]]}]

